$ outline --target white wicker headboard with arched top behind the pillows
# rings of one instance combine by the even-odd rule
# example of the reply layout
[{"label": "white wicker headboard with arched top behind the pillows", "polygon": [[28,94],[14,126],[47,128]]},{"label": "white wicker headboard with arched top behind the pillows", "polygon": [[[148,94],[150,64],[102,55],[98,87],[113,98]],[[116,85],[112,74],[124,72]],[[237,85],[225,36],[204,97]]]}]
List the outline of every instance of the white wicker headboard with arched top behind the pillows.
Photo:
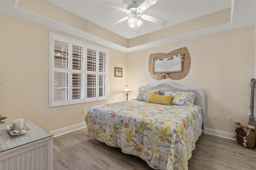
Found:
[{"label": "white wicker headboard with arched top behind the pillows", "polygon": [[162,94],[164,94],[164,91],[188,91],[188,92],[192,92],[196,95],[194,104],[198,105],[201,107],[201,111],[202,111],[202,117],[203,117],[203,133],[204,133],[204,117],[205,117],[205,93],[202,89],[198,88],[198,87],[182,87],[179,85],[176,85],[174,83],[170,83],[170,82],[164,82],[164,83],[159,83],[157,85],[153,85],[153,86],[141,86],[139,87],[139,90],[157,90],[160,89]]}]

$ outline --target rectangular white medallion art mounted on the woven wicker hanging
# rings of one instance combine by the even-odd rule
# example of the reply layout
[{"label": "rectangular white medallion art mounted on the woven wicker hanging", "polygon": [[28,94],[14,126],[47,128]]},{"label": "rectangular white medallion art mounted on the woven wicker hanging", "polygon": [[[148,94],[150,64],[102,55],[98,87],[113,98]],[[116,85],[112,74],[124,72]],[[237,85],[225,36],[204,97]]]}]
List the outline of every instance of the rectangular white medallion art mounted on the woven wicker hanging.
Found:
[{"label": "rectangular white medallion art mounted on the woven wicker hanging", "polygon": [[182,72],[182,56],[174,55],[164,58],[153,58],[154,73]]}]

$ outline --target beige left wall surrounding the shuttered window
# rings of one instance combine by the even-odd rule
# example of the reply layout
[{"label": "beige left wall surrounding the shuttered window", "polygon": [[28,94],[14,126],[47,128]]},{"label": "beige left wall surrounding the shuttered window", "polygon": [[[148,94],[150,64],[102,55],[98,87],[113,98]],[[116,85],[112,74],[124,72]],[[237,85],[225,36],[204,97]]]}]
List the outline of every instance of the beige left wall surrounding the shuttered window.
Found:
[{"label": "beige left wall surrounding the shuttered window", "polygon": [[[33,119],[47,130],[84,123],[82,109],[126,100],[126,53],[109,49],[109,100],[49,108],[49,32],[76,40],[88,40],[1,14],[0,72],[8,78],[0,89],[0,114],[13,119]],[[95,44],[98,45],[98,44]],[[104,47],[99,45],[100,47]],[[105,47],[107,48],[107,47]],[[114,77],[114,67],[122,67],[122,78]]]}]

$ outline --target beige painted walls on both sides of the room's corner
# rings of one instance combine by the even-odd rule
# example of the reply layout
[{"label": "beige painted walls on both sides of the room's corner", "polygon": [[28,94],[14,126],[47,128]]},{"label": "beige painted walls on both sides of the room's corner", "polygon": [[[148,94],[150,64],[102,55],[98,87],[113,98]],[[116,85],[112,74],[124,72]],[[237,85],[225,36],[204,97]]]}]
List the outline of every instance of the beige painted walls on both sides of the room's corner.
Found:
[{"label": "beige painted walls on both sides of the room's corner", "polygon": [[[229,123],[228,117],[234,117],[234,122],[248,123],[250,79],[256,72],[255,26],[131,53],[105,47],[110,53],[110,99],[49,108],[49,32],[95,43],[6,14],[0,17],[0,72],[8,78],[0,89],[0,114],[8,117],[6,123],[16,118],[34,119],[50,131],[84,123],[82,109],[88,111],[94,105],[125,100],[122,89],[126,84],[133,90],[131,99],[136,97],[139,86],[164,81],[205,91],[206,128],[233,132],[234,123]],[[187,47],[190,53],[188,75],[176,81],[150,77],[149,55],[180,47]],[[114,67],[123,68],[122,78],[114,77]],[[218,114],[218,121],[213,120],[214,114]]]}]

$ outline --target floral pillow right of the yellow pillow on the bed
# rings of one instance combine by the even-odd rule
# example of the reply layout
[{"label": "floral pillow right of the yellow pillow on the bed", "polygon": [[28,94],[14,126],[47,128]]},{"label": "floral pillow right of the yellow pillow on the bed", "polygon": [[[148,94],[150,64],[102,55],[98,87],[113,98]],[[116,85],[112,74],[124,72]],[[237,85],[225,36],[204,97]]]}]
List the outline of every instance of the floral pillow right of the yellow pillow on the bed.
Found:
[{"label": "floral pillow right of the yellow pillow on the bed", "polygon": [[164,95],[172,95],[172,105],[180,106],[192,106],[194,105],[195,95],[192,92],[176,92],[176,91],[165,91]]}]

